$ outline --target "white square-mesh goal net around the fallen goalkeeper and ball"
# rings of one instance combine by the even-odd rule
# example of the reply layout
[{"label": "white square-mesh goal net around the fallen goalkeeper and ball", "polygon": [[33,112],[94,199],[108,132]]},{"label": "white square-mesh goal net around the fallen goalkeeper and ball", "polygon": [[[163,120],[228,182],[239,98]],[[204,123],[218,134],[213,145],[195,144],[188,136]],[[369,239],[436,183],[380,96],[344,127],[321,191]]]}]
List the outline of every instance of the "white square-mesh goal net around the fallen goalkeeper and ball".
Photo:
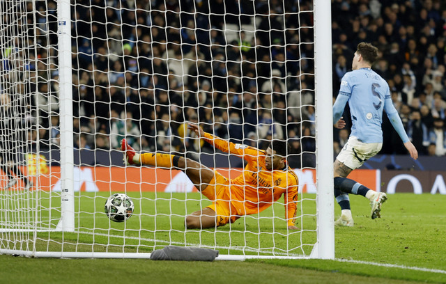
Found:
[{"label": "white square-mesh goal net around the fallen goalkeeper and ball", "polygon": [[[227,259],[334,257],[331,75],[318,74],[331,70],[329,1],[16,0],[0,13],[0,253],[147,258],[176,245]],[[261,150],[287,141],[298,230],[284,196],[226,226],[185,228],[212,202],[183,171],[126,166],[121,140],[229,180],[246,171],[187,123]],[[104,212],[116,193],[134,203],[121,223]]]}]

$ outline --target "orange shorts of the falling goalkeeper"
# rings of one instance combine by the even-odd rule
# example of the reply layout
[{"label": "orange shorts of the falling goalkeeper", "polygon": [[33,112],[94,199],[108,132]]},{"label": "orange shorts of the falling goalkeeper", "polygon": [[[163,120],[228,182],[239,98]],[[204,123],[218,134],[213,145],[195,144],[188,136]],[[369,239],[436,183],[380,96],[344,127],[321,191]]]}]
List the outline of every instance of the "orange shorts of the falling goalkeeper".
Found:
[{"label": "orange shorts of the falling goalkeeper", "polygon": [[233,223],[240,216],[235,216],[236,209],[231,205],[231,196],[229,190],[229,180],[223,175],[214,171],[214,178],[206,189],[201,191],[201,194],[212,200],[212,205],[207,206],[215,211],[217,215],[216,225],[224,226],[227,223]]}]

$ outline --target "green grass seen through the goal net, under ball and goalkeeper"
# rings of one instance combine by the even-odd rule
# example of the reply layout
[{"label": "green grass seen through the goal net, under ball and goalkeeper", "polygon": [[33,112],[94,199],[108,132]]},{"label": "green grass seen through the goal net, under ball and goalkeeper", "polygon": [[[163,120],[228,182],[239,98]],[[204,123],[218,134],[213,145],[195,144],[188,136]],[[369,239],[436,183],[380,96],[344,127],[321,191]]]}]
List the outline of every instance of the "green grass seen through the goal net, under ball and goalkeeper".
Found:
[{"label": "green grass seen through the goal net, under ball and goalkeeper", "polygon": [[[41,194],[39,199],[43,207],[49,207],[50,200],[53,207],[60,203],[59,196],[53,194],[52,198],[47,198],[47,193]],[[300,202],[305,215],[299,222],[304,223],[305,230],[289,232],[284,220],[284,205],[278,203],[262,212],[260,219],[252,215],[220,228],[185,230],[185,216],[210,205],[206,197],[199,193],[144,193],[143,198],[137,196],[139,193],[128,195],[134,201],[134,214],[128,221],[116,223],[109,221],[104,213],[108,194],[82,192],[79,198],[77,193],[75,223],[81,233],[38,232],[37,251],[60,251],[62,242],[65,251],[91,251],[94,246],[94,251],[125,252],[151,252],[166,244],[201,244],[217,248],[221,254],[243,254],[245,251],[254,255],[309,255],[316,242],[316,209],[314,200],[307,198]],[[15,214],[15,210],[10,211],[11,215]],[[42,216],[45,223],[51,223],[55,228],[60,212],[42,210]],[[9,219],[17,219],[17,216],[9,216]]]}]

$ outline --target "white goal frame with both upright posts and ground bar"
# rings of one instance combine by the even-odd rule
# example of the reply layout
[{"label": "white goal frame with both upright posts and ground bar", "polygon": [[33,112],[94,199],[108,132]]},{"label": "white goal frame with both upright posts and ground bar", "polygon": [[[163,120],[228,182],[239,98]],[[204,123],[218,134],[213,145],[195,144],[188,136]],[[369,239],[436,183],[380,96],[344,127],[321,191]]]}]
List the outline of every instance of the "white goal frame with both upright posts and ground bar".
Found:
[{"label": "white goal frame with both upright posts and ground bar", "polygon": [[[75,232],[74,155],[72,125],[72,65],[70,0],[57,0],[59,40],[59,86],[61,123],[61,220],[56,231]],[[248,258],[334,259],[334,194],[332,148],[332,45],[331,1],[314,0],[315,93],[316,93],[316,232],[317,242],[308,257],[280,255],[220,255],[217,260]],[[13,230],[1,229],[1,232]],[[38,232],[40,229],[28,230]],[[0,254],[36,258],[150,258],[151,253],[50,252],[3,249]]]}]

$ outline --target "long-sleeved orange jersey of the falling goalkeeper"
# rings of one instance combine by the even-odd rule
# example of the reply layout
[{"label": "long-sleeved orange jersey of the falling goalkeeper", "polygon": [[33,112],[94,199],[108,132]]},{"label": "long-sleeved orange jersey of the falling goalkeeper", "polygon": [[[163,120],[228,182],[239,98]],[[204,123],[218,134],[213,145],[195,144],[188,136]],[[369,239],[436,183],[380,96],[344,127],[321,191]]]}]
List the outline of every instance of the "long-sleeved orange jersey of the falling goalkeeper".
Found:
[{"label": "long-sleeved orange jersey of the falling goalkeeper", "polygon": [[231,180],[229,185],[231,205],[239,215],[262,212],[284,194],[285,219],[288,226],[294,226],[298,177],[289,166],[270,171],[265,168],[266,151],[231,143],[206,132],[203,139],[215,148],[239,155],[248,162],[243,173]]}]

